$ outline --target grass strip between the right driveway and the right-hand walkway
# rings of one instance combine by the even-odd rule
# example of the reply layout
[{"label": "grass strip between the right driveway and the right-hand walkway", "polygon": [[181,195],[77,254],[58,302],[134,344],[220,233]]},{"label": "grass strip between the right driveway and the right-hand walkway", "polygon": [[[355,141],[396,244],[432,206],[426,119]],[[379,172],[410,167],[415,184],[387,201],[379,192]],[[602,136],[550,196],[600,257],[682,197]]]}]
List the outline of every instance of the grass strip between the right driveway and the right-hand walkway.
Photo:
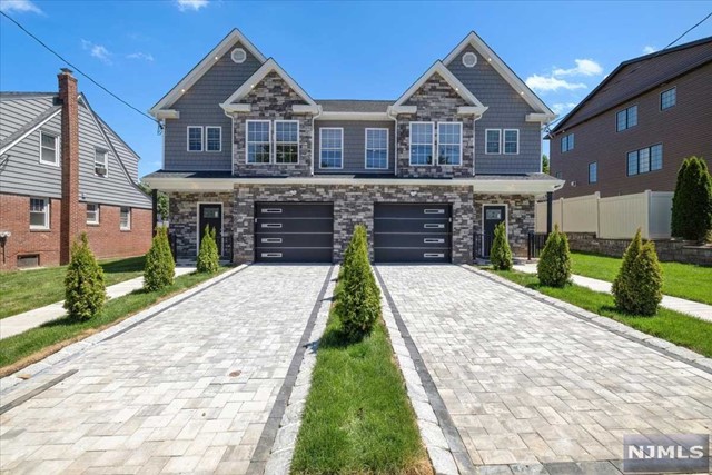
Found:
[{"label": "grass strip between the right driveway and the right-hand walkway", "polygon": [[615,308],[613,296],[577,285],[566,285],[564,288],[545,287],[532,274],[512,270],[492,270],[494,274],[548,295],[550,297],[567,301],[576,307],[594,314],[612,318],[629,327],[653,335],[675,345],[684,346],[706,357],[712,357],[712,323],[690,317],[678,311],[660,307],[653,317],[630,315]]}]

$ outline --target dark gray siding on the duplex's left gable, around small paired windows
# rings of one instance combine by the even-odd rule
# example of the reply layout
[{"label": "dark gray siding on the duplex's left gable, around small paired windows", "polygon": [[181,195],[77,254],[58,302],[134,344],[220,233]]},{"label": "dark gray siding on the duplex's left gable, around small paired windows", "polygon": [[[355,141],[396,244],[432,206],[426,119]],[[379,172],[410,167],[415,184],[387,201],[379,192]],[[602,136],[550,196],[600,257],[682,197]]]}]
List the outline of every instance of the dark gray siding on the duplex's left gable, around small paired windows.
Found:
[{"label": "dark gray siding on the duplex's left gable, around small paired windows", "polygon": [[[236,44],[234,48],[238,48]],[[166,170],[230,170],[233,121],[225,116],[219,103],[235,92],[261,63],[247,49],[247,59],[236,65],[230,59],[230,48],[171,109],[180,112],[180,119],[166,120],[164,141],[164,169]],[[188,126],[222,127],[222,149],[216,151],[187,151]]]}]

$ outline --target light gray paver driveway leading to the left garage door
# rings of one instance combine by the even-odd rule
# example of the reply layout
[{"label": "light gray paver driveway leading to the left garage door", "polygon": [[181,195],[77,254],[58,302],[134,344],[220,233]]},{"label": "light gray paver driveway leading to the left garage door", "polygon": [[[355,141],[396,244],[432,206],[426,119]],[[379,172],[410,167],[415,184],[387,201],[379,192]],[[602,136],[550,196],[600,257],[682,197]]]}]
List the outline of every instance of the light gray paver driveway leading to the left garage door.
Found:
[{"label": "light gray paver driveway leading to the left garage door", "polygon": [[59,363],[0,416],[0,469],[245,473],[328,270],[250,266]]}]

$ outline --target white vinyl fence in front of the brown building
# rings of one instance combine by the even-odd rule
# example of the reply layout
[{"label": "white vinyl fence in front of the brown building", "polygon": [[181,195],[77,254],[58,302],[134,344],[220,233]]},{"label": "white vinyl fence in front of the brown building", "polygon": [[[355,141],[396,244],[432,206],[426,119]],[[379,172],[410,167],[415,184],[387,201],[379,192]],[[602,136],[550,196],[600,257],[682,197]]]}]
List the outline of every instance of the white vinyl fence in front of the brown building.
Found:
[{"label": "white vinyl fence in front of the brown building", "polygon": [[[597,192],[552,204],[553,225],[564,232],[595,232],[601,239],[629,239],[641,228],[645,239],[670,238],[672,191],[646,190],[601,198]],[[546,201],[536,204],[536,232],[546,232]]]}]

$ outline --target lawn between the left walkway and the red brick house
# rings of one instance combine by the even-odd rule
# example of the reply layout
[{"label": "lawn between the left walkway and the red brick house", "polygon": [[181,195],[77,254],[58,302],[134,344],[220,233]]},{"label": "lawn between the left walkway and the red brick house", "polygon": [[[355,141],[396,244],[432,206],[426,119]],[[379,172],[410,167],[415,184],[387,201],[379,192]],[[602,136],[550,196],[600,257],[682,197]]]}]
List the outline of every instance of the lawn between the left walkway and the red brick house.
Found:
[{"label": "lawn between the left walkway and the red brick house", "polygon": [[[144,274],[144,256],[103,260],[107,286]],[[65,299],[67,266],[0,273],[0,318],[32,310]]]}]

